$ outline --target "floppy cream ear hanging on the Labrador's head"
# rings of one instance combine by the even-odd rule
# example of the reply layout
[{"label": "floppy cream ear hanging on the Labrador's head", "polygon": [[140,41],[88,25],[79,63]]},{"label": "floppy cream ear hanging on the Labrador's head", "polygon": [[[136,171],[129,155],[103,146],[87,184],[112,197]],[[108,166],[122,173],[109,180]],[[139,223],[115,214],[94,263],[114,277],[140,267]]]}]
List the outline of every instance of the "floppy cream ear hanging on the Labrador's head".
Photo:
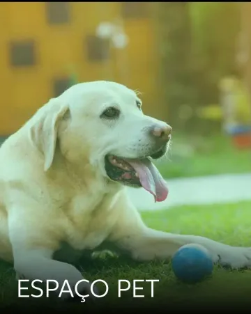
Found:
[{"label": "floppy cream ear hanging on the Labrador's head", "polygon": [[39,109],[33,117],[30,127],[31,141],[45,157],[44,171],[47,171],[54,159],[56,139],[61,120],[70,113],[68,104],[61,104],[53,98],[44,107]]}]

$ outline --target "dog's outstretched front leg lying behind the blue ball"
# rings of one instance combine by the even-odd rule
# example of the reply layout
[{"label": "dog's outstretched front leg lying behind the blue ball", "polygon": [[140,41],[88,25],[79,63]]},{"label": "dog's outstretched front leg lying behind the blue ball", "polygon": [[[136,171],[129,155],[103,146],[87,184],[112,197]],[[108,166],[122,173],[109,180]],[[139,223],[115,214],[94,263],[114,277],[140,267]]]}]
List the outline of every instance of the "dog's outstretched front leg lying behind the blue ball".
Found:
[{"label": "dog's outstretched front leg lying behind the blue ball", "polygon": [[174,235],[146,228],[141,235],[128,235],[117,245],[139,261],[169,260],[185,244],[201,244],[211,254],[214,263],[231,268],[251,267],[251,248],[234,247],[196,235]]}]

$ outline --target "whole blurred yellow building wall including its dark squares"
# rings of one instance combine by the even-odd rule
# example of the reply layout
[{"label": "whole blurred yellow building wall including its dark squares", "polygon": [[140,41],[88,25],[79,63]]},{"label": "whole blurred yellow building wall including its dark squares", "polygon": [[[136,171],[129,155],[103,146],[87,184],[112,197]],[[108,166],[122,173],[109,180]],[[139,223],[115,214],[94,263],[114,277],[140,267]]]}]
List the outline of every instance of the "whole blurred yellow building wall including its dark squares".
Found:
[{"label": "whole blurred yellow building wall including its dark squares", "polygon": [[[68,88],[73,79],[119,81],[142,91],[152,114],[162,111],[149,5],[0,3],[0,133],[14,132],[50,97]],[[107,23],[114,25],[112,38],[102,36],[100,27]]]}]

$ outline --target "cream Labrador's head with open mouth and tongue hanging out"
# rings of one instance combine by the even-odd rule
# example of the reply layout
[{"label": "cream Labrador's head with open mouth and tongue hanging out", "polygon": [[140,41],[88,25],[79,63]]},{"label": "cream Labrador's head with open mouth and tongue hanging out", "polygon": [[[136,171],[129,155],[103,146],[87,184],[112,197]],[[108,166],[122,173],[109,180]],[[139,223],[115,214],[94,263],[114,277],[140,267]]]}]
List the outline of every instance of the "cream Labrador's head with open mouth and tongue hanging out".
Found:
[{"label": "cream Labrador's head with open mouth and tongue hanging out", "polygon": [[31,139],[52,166],[56,143],[62,155],[88,162],[108,180],[144,187],[156,201],[167,189],[151,159],[167,152],[172,128],[142,112],[137,94],[110,81],[76,84],[33,117]]}]

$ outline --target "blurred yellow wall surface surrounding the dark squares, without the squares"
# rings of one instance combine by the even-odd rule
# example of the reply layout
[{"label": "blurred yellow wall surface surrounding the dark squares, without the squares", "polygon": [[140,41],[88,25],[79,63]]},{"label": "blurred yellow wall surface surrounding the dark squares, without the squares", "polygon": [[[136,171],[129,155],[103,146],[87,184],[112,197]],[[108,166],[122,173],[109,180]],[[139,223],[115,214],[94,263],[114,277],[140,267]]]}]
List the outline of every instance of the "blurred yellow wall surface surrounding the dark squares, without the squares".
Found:
[{"label": "blurred yellow wall surface surrounding the dark squares, without the squares", "polygon": [[[122,5],[70,2],[70,22],[50,25],[45,2],[0,3],[0,135],[15,132],[54,97],[54,79],[68,77],[71,66],[79,81],[111,79],[142,92],[145,113],[160,118],[152,17],[123,19],[130,41],[124,51],[113,48],[109,61],[93,62],[86,56],[86,36],[95,35],[100,22],[120,17]],[[20,40],[35,40],[35,65],[10,64],[10,42]]]}]

